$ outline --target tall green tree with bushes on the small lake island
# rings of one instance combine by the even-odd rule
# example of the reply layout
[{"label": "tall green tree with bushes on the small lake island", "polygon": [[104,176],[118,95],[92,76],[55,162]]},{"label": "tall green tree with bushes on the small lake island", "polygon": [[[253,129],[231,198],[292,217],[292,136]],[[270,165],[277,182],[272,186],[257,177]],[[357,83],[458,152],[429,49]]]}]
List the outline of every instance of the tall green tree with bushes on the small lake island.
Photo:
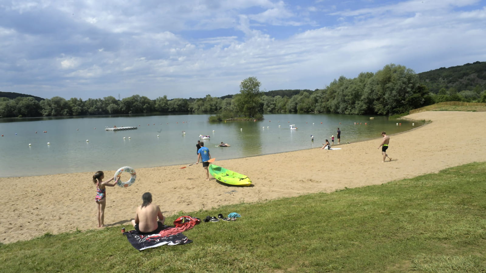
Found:
[{"label": "tall green tree with bushes on the small lake island", "polygon": [[240,94],[236,94],[233,98],[239,115],[253,119],[263,118],[260,85],[256,77],[249,77],[242,81]]}]

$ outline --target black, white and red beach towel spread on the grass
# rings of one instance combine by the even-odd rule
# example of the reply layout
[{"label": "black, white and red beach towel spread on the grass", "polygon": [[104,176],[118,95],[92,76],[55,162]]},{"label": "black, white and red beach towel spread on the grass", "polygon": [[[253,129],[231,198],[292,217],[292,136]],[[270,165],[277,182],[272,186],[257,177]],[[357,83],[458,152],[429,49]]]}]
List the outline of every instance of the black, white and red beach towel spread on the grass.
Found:
[{"label": "black, white and red beach towel spread on the grass", "polygon": [[192,218],[191,216],[182,216],[174,221],[176,227],[166,225],[159,233],[143,235],[136,230],[130,230],[123,234],[126,235],[126,238],[132,244],[132,246],[139,251],[161,245],[188,244],[191,243],[192,240],[188,239],[184,234],[182,234],[182,231],[191,229],[199,222],[201,222],[201,220],[197,218]]}]

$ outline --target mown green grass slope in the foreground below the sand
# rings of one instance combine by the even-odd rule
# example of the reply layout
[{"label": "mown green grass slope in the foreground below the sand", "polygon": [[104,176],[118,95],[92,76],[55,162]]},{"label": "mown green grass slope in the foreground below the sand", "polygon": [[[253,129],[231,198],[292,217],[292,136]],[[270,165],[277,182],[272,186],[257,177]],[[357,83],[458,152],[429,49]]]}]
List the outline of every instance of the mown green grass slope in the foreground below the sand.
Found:
[{"label": "mown green grass slope in the foreground below the sand", "polygon": [[202,222],[184,233],[191,244],[142,252],[120,227],[46,233],[0,245],[0,272],[486,272],[485,177],[486,163],[472,163],[378,186],[188,213],[242,218]]}]

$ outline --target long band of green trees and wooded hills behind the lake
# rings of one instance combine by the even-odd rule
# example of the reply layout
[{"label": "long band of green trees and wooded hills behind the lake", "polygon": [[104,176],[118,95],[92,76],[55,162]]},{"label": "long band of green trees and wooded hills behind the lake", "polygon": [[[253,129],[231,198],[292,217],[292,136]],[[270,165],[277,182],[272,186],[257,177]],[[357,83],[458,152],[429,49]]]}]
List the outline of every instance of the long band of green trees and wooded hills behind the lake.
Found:
[{"label": "long band of green trees and wooded hills behind the lake", "polygon": [[[256,78],[253,80],[260,84]],[[485,89],[486,62],[419,74],[410,68],[390,64],[376,73],[362,72],[353,79],[341,76],[323,89],[259,91],[257,101],[252,104],[256,108],[252,106],[255,108],[252,111],[394,115],[435,102],[486,102]],[[166,95],[155,100],[139,95],[122,100],[108,96],[86,101],[61,97],[42,99],[25,94],[14,97],[15,94],[18,93],[0,92],[0,117],[235,113],[245,108],[244,100],[239,98],[241,94],[171,100]]]}]

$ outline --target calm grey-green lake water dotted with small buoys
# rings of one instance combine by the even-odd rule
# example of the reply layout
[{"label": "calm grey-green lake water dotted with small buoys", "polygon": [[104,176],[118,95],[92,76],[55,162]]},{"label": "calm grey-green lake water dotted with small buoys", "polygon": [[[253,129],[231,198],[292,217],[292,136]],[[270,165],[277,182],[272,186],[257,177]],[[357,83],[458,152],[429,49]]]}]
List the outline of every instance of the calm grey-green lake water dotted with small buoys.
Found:
[{"label": "calm grey-green lake water dotted with small buoys", "polygon": [[[211,137],[204,140],[206,147],[212,157],[222,160],[321,147],[326,138],[330,141],[331,135],[336,136],[337,127],[341,128],[341,143],[346,143],[380,137],[381,131],[394,134],[422,125],[415,122],[413,126],[410,121],[386,117],[369,119],[370,116],[333,114],[267,114],[264,120],[257,122],[217,123],[208,122],[208,117],[0,119],[0,135],[3,135],[0,137],[0,176],[191,164],[197,159],[195,144],[199,135]],[[401,125],[397,126],[397,122]],[[290,130],[290,124],[295,124],[298,130]],[[104,130],[113,125],[137,126],[138,129]],[[231,147],[215,147],[221,141]]]}]

